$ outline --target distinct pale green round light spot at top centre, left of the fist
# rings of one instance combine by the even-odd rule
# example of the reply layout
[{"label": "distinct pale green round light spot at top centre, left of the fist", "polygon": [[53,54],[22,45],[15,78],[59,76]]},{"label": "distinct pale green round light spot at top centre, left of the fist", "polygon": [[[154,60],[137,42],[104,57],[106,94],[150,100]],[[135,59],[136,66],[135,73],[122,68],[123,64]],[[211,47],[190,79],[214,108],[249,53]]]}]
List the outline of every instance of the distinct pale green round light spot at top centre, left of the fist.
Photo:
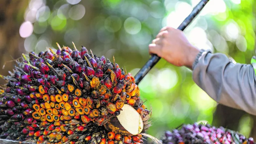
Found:
[{"label": "distinct pale green round light spot at top centre, left of the fist", "polygon": [[124,21],[124,29],[130,34],[136,34],[141,30],[141,23],[137,18],[129,17]]}]

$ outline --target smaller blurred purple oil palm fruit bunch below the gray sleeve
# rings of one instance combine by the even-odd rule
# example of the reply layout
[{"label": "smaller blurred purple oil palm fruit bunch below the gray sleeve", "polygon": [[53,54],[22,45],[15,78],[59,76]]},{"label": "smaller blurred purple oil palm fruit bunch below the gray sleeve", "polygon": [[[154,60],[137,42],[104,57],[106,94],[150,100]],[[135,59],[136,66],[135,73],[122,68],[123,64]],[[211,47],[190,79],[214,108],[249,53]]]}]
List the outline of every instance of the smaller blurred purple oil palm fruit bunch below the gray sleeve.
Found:
[{"label": "smaller blurred purple oil palm fruit bunch below the gray sleeve", "polygon": [[160,139],[163,144],[255,144],[238,132],[209,124],[187,124],[181,128],[165,131]]}]

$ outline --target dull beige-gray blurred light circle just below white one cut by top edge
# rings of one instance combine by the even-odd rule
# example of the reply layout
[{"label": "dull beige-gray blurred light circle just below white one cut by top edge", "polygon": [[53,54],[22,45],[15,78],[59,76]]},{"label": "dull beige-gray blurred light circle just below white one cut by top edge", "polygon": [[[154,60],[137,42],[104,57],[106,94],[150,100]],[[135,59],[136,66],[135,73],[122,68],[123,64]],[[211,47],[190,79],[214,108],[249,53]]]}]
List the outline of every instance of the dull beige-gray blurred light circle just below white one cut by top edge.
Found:
[{"label": "dull beige-gray blurred light circle just below white one cut by top edge", "polygon": [[79,20],[85,15],[85,7],[82,4],[73,6],[69,10],[69,16],[73,20]]}]

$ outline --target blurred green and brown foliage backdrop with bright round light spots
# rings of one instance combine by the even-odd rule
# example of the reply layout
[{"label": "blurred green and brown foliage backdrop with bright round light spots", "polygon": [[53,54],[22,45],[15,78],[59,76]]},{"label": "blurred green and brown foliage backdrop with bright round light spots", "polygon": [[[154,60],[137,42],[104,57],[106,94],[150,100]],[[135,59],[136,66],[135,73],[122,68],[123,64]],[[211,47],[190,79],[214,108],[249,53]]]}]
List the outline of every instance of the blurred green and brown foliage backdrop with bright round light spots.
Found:
[{"label": "blurred green and brown foliage backdrop with bright round light spots", "polygon": [[[149,59],[148,44],[164,26],[177,28],[199,0],[22,0],[0,3],[1,65],[28,51],[61,46],[113,55],[136,75]],[[255,53],[255,0],[210,0],[184,30],[199,48],[250,63]],[[1,22],[2,20],[2,22]],[[13,35],[10,35],[13,34]],[[12,62],[1,69],[11,70]],[[2,81],[1,81],[2,82]],[[182,123],[209,122],[255,138],[255,116],[219,106],[192,80],[192,71],[161,59],[139,84],[152,109],[148,134],[159,137]],[[218,110],[218,107],[219,110]]]}]

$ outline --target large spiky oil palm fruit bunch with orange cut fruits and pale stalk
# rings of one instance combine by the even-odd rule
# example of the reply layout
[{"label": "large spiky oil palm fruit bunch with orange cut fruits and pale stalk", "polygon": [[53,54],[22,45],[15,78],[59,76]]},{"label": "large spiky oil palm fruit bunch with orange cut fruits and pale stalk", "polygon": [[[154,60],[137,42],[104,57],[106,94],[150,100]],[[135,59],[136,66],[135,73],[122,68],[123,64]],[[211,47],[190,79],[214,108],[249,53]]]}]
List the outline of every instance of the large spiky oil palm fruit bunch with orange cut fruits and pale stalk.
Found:
[{"label": "large spiky oil palm fruit bunch with orange cut fruits and pale stalk", "polygon": [[[22,54],[1,85],[0,138],[46,144],[140,144],[151,111],[130,73],[82,46]],[[113,56],[114,58],[114,56]]]}]

